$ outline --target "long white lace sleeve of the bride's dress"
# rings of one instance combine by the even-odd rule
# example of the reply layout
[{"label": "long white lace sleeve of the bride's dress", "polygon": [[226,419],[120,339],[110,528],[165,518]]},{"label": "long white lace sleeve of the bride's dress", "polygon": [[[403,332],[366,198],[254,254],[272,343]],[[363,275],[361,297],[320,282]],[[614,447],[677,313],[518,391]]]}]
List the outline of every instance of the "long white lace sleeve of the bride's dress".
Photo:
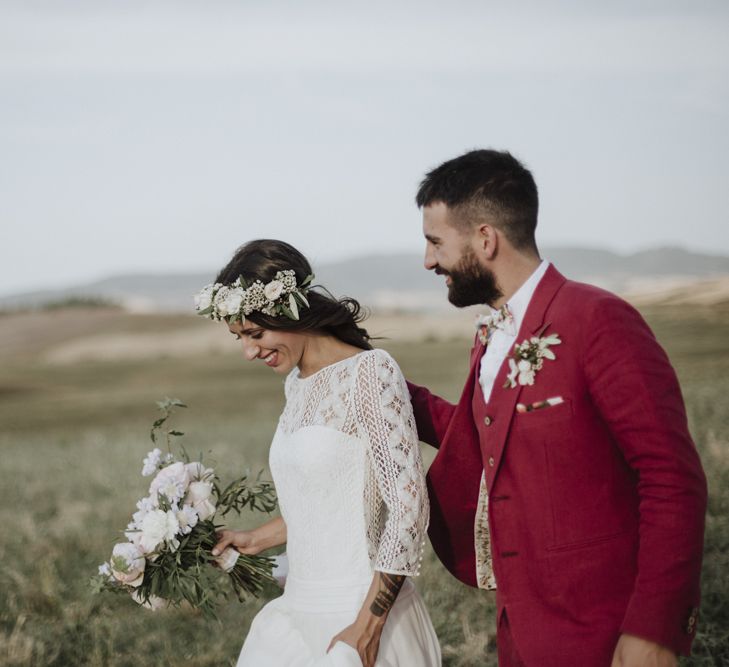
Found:
[{"label": "long white lace sleeve of the bride's dress", "polygon": [[365,497],[368,537],[376,545],[374,568],[417,575],[428,528],[428,494],[405,378],[387,352],[374,350],[361,355],[354,406],[376,481],[376,488],[369,493],[365,488],[365,495],[370,496]]}]

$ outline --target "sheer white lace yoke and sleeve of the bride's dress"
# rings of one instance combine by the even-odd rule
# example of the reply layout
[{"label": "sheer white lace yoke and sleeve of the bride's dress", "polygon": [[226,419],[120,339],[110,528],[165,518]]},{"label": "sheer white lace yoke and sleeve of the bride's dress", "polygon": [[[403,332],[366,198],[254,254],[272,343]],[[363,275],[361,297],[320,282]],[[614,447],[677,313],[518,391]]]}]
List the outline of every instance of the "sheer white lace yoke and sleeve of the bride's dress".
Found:
[{"label": "sheer white lace yoke and sleeve of the bride's dress", "polygon": [[369,560],[381,572],[417,575],[428,527],[428,494],[408,389],[395,360],[383,350],[372,350],[306,378],[294,369],[285,392],[282,433],[323,426],[350,436],[340,441],[342,446],[364,443]]}]

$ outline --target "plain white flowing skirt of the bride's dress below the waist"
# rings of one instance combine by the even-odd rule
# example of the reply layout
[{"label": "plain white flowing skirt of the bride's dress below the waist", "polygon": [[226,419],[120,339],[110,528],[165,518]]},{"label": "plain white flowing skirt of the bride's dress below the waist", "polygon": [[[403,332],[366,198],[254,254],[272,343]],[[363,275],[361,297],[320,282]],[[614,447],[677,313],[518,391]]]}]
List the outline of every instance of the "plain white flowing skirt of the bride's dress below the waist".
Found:
[{"label": "plain white flowing skirt of the bride's dress below the waist", "polygon": [[[253,619],[238,667],[361,667],[357,651],[332,638],[359,613],[367,582],[286,581],[284,594]],[[440,646],[423,600],[405,580],[385,622],[377,667],[440,667]]]}]

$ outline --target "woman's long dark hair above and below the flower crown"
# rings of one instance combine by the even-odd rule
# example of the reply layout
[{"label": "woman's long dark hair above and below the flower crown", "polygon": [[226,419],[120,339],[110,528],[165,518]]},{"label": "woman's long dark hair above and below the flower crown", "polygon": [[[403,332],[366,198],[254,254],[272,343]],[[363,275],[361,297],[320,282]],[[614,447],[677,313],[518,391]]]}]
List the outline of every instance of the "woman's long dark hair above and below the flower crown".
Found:
[{"label": "woman's long dark hair above and below the flower crown", "polygon": [[[249,241],[235,251],[233,259],[218,273],[216,283],[232,285],[238,278],[250,285],[255,280],[266,284],[274,279],[277,271],[291,269],[296,273],[296,284],[300,285],[308,275],[314,273],[309,260],[296,248],[284,241],[259,239]],[[371,350],[370,335],[359,323],[367,317],[355,299],[337,299],[321,285],[314,285],[306,293],[309,308],[299,308],[299,319],[271,317],[255,311],[246,316],[254,324],[265,329],[284,331],[322,331],[339,340]]]}]

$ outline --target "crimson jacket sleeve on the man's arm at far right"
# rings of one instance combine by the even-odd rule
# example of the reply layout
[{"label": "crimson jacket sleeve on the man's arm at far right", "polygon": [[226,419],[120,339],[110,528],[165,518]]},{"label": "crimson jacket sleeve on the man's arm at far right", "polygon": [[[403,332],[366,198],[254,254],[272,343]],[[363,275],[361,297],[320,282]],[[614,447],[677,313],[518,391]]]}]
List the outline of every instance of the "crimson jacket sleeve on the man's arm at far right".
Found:
[{"label": "crimson jacket sleeve on the man's arm at far right", "polygon": [[638,571],[621,631],[688,654],[706,478],[676,374],[648,325],[612,295],[591,310],[582,348],[589,392],[638,485]]}]

